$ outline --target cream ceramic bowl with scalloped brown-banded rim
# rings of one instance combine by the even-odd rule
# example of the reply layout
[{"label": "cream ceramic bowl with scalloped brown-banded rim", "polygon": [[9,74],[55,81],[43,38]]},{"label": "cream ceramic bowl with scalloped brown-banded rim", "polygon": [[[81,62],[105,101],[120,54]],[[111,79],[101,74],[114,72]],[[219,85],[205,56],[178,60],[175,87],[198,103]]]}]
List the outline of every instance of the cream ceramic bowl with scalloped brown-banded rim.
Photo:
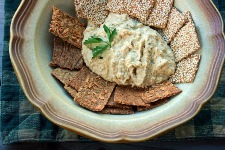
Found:
[{"label": "cream ceramic bowl with scalloped brown-banded rim", "polygon": [[52,6],[74,16],[73,0],[22,0],[12,24],[10,57],[29,101],[50,121],[77,134],[105,142],[137,142],[153,138],[194,117],[216,90],[225,55],[221,16],[210,0],[175,0],[190,10],[202,55],[196,79],[178,84],[181,94],[168,103],[133,115],[88,111],[55,80],[49,67],[53,35],[48,32]]}]

